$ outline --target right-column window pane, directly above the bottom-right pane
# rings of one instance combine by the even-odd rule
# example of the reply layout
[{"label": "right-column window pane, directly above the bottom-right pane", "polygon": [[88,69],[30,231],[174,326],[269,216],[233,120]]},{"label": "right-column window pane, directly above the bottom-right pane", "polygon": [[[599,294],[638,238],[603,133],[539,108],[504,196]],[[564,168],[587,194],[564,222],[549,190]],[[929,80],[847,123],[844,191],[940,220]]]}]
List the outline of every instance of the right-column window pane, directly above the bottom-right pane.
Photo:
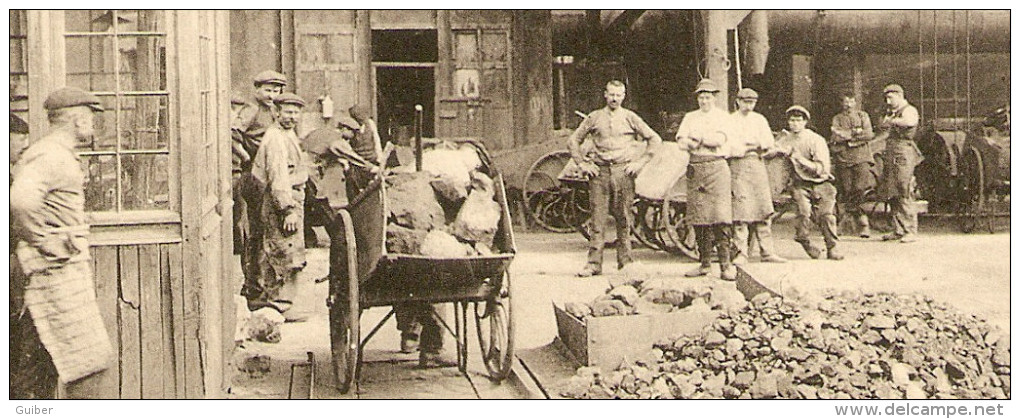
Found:
[{"label": "right-column window pane, directly above the bottom-right pane", "polygon": [[165,96],[121,97],[120,149],[166,150],[167,103]]}]

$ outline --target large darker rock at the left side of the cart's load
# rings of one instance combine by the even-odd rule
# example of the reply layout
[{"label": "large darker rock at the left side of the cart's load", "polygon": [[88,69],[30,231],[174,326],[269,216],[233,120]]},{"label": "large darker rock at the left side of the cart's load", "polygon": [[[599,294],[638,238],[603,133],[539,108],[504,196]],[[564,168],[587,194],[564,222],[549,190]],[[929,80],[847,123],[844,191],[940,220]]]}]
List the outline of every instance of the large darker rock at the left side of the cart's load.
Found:
[{"label": "large darker rock at the left side of the cart's load", "polygon": [[401,226],[428,231],[446,223],[443,207],[427,172],[396,173],[387,177],[387,206],[391,219]]}]

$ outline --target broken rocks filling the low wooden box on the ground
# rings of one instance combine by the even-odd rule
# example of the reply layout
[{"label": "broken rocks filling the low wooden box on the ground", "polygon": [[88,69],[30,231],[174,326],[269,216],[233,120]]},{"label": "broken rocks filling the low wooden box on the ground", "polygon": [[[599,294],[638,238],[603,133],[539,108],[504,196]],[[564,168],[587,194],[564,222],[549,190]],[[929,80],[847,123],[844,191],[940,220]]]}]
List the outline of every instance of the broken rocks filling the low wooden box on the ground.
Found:
[{"label": "broken rocks filling the low wooden box on the ground", "polygon": [[659,287],[642,280],[610,284],[606,293],[590,303],[565,303],[563,310],[583,320],[586,317],[670,313],[677,310],[711,310],[723,306],[713,301],[710,287],[683,290]]}]

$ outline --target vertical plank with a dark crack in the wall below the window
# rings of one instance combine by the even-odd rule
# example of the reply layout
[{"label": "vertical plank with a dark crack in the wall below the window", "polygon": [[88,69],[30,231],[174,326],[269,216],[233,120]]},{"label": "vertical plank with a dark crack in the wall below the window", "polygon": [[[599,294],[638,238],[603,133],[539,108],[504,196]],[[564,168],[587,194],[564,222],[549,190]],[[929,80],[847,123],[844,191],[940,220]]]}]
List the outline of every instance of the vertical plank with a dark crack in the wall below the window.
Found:
[{"label": "vertical plank with a dark crack in the wall below the window", "polygon": [[142,345],[139,339],[138,248],[118,248],[120,255],[120,399],[142,398]]}]

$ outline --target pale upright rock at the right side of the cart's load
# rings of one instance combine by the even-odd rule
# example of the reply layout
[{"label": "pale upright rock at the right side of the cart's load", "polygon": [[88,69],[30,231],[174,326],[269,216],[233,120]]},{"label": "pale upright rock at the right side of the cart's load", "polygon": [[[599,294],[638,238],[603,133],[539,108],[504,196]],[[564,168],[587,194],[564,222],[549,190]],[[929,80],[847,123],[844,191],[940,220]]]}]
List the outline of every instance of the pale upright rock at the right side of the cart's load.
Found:
[{"label": "pale upright rock at the right side of the cart's load", "polygon": [[496,194],[493,179],[479,171],[471,172],[471,193],[460,207],[451,225],[453,235],[492,248],[499,228],[500,204],[493,201]]}]

